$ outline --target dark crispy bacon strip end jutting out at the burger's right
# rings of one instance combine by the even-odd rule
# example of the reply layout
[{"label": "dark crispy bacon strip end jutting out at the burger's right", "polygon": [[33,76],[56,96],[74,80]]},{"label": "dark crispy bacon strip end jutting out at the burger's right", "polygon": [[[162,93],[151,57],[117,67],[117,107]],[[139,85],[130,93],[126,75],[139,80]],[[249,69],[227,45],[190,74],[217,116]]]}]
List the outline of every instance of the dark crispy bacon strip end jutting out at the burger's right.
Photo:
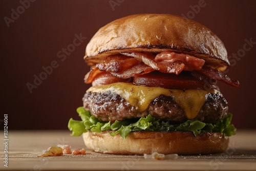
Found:
[{"label": "dark crispy bacon strip end jutting out at the burger's right", "polygon": [[[197,72],[197,73],[195,73]],[[228,84],[229,86],[238,88],[239,87],[239,81],[238,80],[234,80],[229,78],[226,74],[220,72],[217,69],[213,69],[207,66],[204,66],[201,70],[199,71],[193,71],[193,75],[195,77],[198,77],[199,79],[203,79],[204,77],[210,78],[210,79],[214,79],[214,80],[219,80],[219,81],[223,81],[226,84]],[[199,73],[199,74],[198,74]]]}]

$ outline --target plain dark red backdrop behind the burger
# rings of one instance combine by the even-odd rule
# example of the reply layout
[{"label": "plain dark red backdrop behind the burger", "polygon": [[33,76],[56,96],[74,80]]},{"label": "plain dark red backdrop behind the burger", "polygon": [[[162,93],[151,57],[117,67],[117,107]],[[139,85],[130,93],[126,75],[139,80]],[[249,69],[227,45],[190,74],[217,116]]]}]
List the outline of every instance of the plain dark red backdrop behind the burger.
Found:
[{"label": "plain dark red backdrop behind the burger", "polygon": [[[112,8],[110,2],[117,4]],[[24,11],[21,5],[20,1],[0,1],[0,114],[1,118],[8,114],[9,129],[67,129],[70,117],[78,119],[76,108],[90,86],[83,83],[89,71],[83,61],[87,43],[103,25],[136,13],[183,14],[215,32],[230,56],[241,53],[240,58],[230,58],[232,66],[227,73],[240,80],[241,86],[219,85],[229,102],[233,123],[238,128],[256,128],[256,45],[243,51],[245,39],[256,41],[256,1],[37,0]],[[12,9],[17,8],[21,14],[8,27],[5,18],[11,18]],[[87,38],[66,59],[63,53],[58,58],[62,48],[71,47],[75,34]],[[30,93],[26,84],[33,83],[34,75],[39,76],[42,67],[54,60],[58,67]]]}]

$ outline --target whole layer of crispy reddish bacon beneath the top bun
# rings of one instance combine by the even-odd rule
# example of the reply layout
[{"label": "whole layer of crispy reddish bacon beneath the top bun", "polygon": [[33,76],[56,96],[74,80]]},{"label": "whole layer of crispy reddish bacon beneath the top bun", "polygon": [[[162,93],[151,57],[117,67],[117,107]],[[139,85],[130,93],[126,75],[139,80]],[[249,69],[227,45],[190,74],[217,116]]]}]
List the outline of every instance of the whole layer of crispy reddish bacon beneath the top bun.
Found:
[{"label": "whole layer of crispy reddish bacon beneath the top bun", "polygon": [[[220,80],[232,87],[239,87],[239,81],[229,78],[224,73],[210,67],[202,67],[204,60],[189,55],[169,54],[173,52],[163,52],[156,56],[152,53],[121,53],[106,58],[104,62],[98,63],[96,67],[84,78],[84,82],[92,83],[95,79],[98,85],[106,81],[106,73],[111,74],[111,81],[123,78],[131,78],[137,75],[150,73],[158,70],[163,73],[175,73],[178,75],[182,70],[191,71],[192,75],[200,80],[212,79]],[[181,55],[181,56],[180,56]],[[179,58],[179,59],[177,59]],[[188,65],[189,63],[189,65]],[[197,71],[196,71],[197,70]],[[115,78],[117,77],[117,78]]]}]

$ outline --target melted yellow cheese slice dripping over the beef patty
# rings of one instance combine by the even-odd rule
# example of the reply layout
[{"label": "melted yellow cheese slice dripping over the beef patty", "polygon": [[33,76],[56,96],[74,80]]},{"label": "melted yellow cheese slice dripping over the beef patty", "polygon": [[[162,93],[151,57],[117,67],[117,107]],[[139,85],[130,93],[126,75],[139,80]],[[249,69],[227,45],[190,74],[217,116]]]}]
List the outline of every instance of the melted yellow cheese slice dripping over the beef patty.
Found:
[{"label": "melted yellow cheese slice dripping over the beef patty", "polygon": [[158,87],[137,86],[133,83],[116,82],[104,86],[91,87],[87,92],[102,93],[111,91],[120,95],[138,111],[147,109],[148,105],[158,96],[172,96],[184,109],[188,119],[195,118],[202,108],[206,94],[219,93],[217,90],[172,90]]}]

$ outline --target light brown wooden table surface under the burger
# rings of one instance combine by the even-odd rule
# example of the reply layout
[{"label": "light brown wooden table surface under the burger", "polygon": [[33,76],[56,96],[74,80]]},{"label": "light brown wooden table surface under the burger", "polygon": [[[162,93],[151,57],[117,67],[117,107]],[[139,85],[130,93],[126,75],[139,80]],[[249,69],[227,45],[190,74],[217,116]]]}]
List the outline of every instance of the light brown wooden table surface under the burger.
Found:
[{"label": "light brown wooden table surface under the burger", "polygon": [[[57,144],[84,148],[81,137],[69,134],[56,130],[9,131],[8,153],[4,152],[4,143],[0,144],[0,170],[256,170],[256,130],[239,130],[236,136],[230,137],[226,152],[217,155],[156,160],[87,151],[91,154],[37,157],[44,149]],[[8,154],[8,167],[4,166],[5,154]]]}]

